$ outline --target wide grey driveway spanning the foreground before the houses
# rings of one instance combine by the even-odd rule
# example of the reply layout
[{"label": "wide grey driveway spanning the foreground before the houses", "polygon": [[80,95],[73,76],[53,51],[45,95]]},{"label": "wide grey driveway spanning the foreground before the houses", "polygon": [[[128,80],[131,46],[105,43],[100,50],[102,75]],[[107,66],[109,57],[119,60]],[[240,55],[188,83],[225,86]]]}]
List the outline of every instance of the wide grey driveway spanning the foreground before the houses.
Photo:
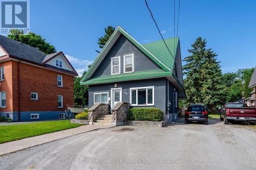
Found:
[{"label": "wide grey driveway spanning the foreground before the houses", "polygon": [[0,156],[1,169],[256,169],[256,128],[180,123],[91,131]]}]

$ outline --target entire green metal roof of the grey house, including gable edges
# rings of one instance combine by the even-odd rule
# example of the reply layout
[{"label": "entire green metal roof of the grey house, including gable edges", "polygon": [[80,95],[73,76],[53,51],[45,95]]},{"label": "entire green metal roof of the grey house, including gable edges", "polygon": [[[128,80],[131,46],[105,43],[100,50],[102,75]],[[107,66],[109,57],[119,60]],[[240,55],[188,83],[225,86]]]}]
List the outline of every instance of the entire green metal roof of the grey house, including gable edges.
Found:
[{"label": "entire green metal roof of the grey house, including gable edges", "polygon": [[[114,39],[117,33],[120,32],[127,39],[129,39],[135,46],[137,46],[142,53],[144,53],[147,57],[152,59],[157,65],[160,66],[161,69],[155,70],[146,70],[146,71],[136,71],[129,74],[118,74],[118,75],[109,75],[109,76],[101,76],[97,78],[91,78],[93,72],[98,67],[100,63],[100,59],[103,57],[103,53],[106,48],[110,45],[110,42]],[[84,75],[82,80],[80,81],[81,85],[92,85],[92,84],[100,84],[100,83],[110,83],[110,82],[118,82],[118,81],[128,81],[128,80],[136,80],[136,79],[146,79],[146,78],[156,78],[156,77],[165,77],[165,76],[173,76],[172,70],[174,69],[175,57],[178,48],[179,38],[169,38],[165,39],[165,42],[172,53],[168,52],[163,40],[155,41],[147,44],[141,45],[138,41],[136,41],[133,37],[127,34],[121,27],[117,27],[114,33],[111,35],[110,39],[104,45],[102,51],[98,55],[98,57],[93,62],[92,66],[87,71],[87,74]],[[175,78],[179,84],[179,80]]]}]

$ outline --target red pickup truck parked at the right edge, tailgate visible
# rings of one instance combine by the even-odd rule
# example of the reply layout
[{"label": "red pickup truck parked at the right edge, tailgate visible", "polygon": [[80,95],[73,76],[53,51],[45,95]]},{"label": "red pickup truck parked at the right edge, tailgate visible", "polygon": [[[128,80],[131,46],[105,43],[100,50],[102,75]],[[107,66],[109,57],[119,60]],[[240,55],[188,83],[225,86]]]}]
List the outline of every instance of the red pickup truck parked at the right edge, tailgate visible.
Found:
[{"label": "red pickup truck parked at the right edge, tailgate visible", "polygon": [[232,121],[256,123],[256,107],[248,107],[244,102],[230,102],[223,106],[220,119],[227,125]]}]

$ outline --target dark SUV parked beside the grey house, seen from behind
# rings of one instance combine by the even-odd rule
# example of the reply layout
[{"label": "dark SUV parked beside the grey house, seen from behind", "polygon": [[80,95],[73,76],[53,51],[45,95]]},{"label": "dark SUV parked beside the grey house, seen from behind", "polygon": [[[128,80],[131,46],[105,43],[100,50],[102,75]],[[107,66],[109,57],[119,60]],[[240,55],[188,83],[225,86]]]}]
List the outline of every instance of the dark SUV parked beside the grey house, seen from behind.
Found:
[{"label": "dark SUV parked beside the grey house, seen from behind", "polygon": [[208,112],[203,104],[191,104],[185,112],[185,124],[189,122],[204,122],[208,125]]}]

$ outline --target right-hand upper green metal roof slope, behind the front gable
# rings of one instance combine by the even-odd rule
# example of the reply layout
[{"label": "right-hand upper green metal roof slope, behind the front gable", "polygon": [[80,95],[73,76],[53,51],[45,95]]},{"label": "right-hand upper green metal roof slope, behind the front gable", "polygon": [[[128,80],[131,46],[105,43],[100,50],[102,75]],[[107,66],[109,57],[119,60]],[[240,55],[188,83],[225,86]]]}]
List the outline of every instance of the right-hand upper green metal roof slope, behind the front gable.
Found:
[{"label": "right-hand upper green metal roof slope, behind the front gable", "polygon": [[179,37],[175,38],[169,38],[164,40],[166,45],[168,46],[170,55],[168,49],[166,48],[163,40],[161,41],[155,41],[150,42],[146,44],[142,44],[148,50],[150,53],[152,53],[158,60],[160,60],[164,65],[166,65],[170,69],[174,69],[174,63],[175,63],[175,56],[177,52]]}]

